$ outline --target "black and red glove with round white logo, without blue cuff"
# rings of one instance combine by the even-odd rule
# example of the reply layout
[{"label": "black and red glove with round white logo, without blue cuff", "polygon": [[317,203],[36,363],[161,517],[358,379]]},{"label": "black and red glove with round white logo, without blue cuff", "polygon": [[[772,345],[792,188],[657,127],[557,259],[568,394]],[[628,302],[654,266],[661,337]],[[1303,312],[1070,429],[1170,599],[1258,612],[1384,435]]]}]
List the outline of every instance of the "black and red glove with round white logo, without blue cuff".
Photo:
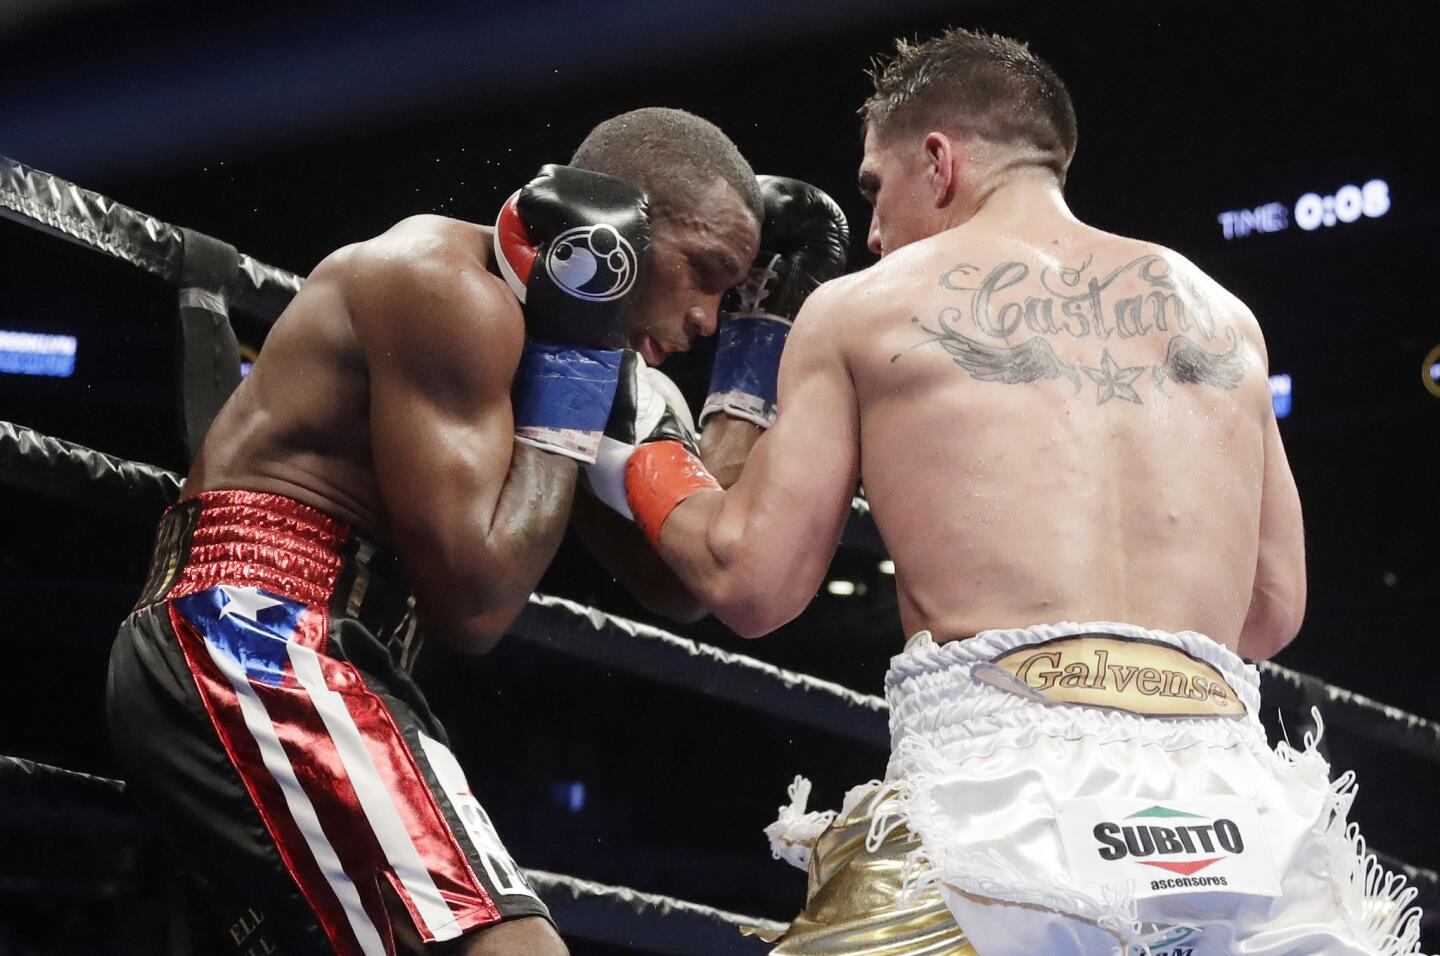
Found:
[{"label": "black and red glove with round white logo, without blue cuff", "polygon": [[649,200],[625,180],[544,166],[495,223],[500,271],[533,341],[624,348],[649,251]]}]

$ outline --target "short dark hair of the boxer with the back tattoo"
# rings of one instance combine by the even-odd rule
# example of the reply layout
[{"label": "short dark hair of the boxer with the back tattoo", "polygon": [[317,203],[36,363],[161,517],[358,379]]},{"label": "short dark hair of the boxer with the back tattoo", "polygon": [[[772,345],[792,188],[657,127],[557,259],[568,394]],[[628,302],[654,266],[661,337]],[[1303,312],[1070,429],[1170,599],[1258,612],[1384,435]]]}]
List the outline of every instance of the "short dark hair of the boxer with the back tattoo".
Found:
[{"label": "short dark hair of the boxer with the back tattoo", "polygon": [[1005,36],[946,30],[910,43],[896,40],[888,62],[870,71],[876,92],[860,108],[883,140],[943,130],[1045,154],[1043,166],[1064,181],[1076,153],[1070,91],[1025,43]]}]

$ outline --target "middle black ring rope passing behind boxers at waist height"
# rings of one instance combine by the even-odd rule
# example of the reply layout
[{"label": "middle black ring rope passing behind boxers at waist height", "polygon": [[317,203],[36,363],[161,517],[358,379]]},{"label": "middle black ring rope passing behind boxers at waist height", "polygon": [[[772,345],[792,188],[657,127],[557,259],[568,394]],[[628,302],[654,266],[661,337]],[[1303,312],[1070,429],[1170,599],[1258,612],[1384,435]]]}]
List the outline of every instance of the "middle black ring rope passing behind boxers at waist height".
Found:
[{"label": "middle black ring rope passing behind boxers at waist height", "polygon": [[[143,505],[151,515],[168,507],[179,494],[180,477],[23,425],[0,422],[0,484],[72,505],[135,517],[134,505]],[[878,697],[572,600],[531,595],[510,633],[562,654],[624,667],[642,677],[819,726],[854,740],[888,743],[888,708]],[[1333,705],[1325,714],[1332,727],[1440,763],[1440,723],[1269,661],[1260,661],[1259,668],[1267,678],[1264,693],[1303,700],[1305,705],[1296,708],[1300,713],[1316,700],[1326,701]]]}]

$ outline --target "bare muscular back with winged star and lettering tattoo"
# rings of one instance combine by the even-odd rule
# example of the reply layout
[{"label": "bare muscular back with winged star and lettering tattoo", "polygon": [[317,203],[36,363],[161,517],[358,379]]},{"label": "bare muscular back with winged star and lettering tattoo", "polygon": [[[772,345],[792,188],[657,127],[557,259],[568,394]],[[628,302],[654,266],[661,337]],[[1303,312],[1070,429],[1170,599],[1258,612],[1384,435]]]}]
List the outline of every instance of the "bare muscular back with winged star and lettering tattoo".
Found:
[{"label": "bare muscular back with winged star and lettering tattoo", "polygon": [[854,284],[861,481],[907,632],[1125,621],[1237,645],[1273,429],[1243,304],[1073,222],[962,226]]}]

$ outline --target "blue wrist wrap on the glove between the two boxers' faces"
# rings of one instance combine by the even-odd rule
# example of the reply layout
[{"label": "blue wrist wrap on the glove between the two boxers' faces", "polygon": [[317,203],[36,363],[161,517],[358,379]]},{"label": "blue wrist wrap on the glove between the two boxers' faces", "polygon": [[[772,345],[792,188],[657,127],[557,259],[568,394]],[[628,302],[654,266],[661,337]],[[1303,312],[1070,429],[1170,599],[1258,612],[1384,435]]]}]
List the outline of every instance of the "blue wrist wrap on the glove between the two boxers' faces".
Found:
[{"label": "blue wrist wrap on the glove between the two boxers' faces", "polygon": [[716,361],[710,373],[710,394],[700,410],[700,423],[716,412],[755,422],[775,423],[775,394],[780,374],[780,351],[791,324],[768,315],[724,315],[716,335]]}]

